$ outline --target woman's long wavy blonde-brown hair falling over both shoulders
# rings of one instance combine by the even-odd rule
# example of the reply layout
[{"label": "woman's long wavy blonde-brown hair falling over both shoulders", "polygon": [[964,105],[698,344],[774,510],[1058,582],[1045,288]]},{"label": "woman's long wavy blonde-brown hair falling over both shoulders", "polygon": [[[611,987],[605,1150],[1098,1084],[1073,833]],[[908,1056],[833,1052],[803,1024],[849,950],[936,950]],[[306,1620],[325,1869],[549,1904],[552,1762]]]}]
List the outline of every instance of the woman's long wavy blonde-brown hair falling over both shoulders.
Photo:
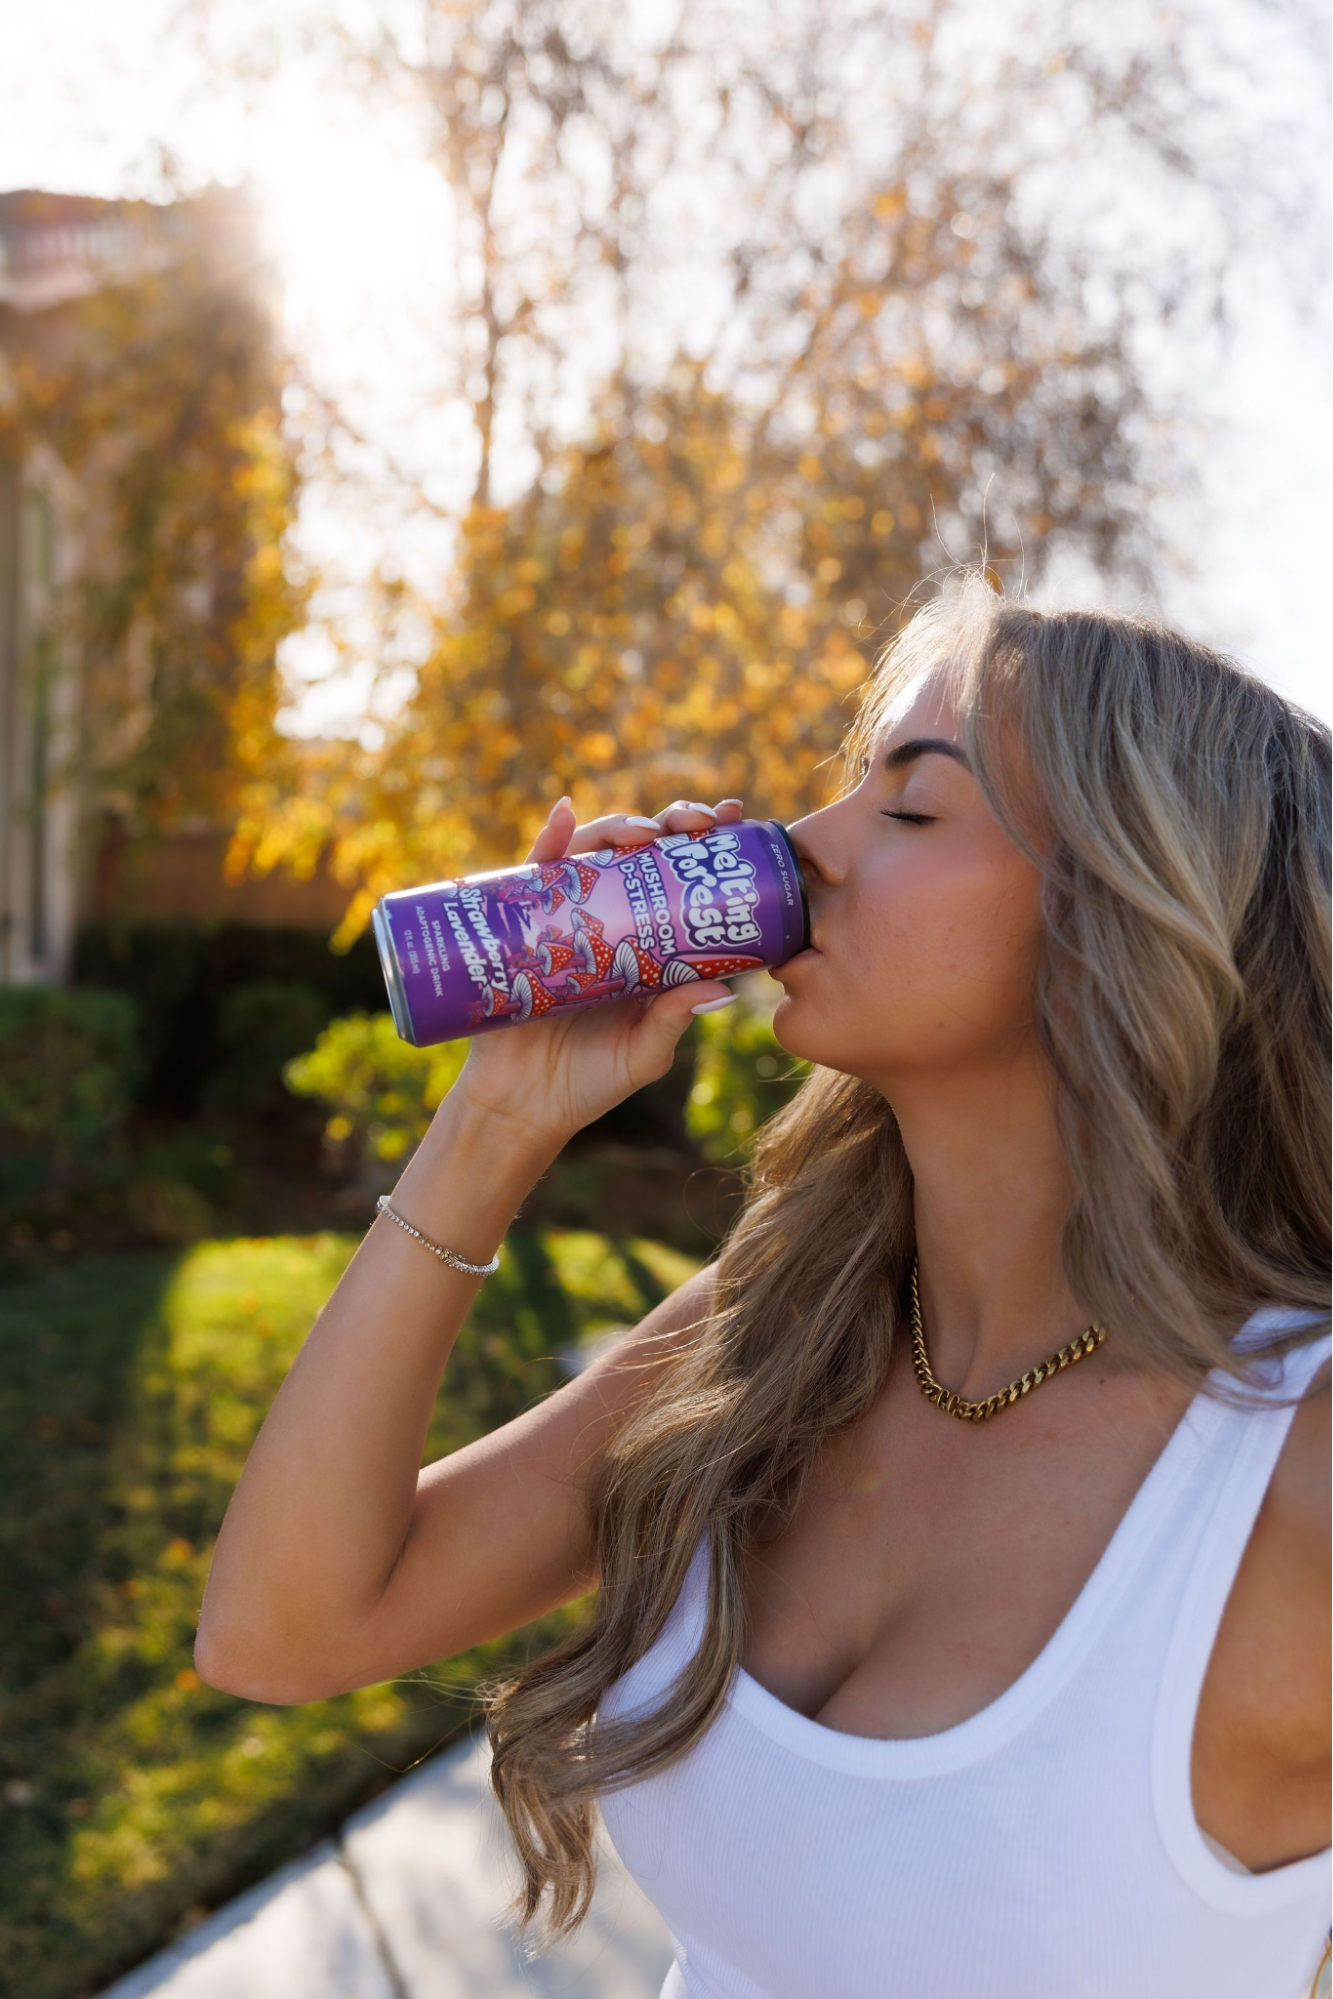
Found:
[{"label": "woman's long wavy blonde-brown hair falling over both shoulders", "polygon": [[[1149,618],[1037,612],[967,576],[877,660],[843,784],[923,668],[947,676],[981,792],[1043,878],[1033,1003],[1075,1189],[1069,1289],[1177,1381],[1247,1379],[1231,1339],[1259,1305],[1311,1317],[1255,1353],[1329,1329],[1329,730]],[[532,1955],[588,1913],[598,1795],[717,1715],[743,1651],[745,1545],[883,1387],[913,1247],[889,1103],[813,1067],[757,1135],[707,1315],[594,1469],[582,1625],[480,1689],[522,1863],[504,1913],[540,1929]],[[598,1725],[701,1535],[687,1671],[658,1711]]]}]

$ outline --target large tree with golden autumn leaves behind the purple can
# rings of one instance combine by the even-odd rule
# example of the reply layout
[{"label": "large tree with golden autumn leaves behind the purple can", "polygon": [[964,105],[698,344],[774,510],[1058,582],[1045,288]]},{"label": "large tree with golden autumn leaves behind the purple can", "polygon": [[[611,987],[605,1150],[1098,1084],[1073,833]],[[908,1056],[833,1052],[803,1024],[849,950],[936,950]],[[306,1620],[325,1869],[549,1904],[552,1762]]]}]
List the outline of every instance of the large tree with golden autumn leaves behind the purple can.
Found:
[{"label": "large tree with golden autumn leaves behind the purple can", "polygon": [[[452,192],[476,472],[450,592],[384,588],[386,632],[428,632],[416,694],[300,792],[256,772],[232,866],[332,842],[350,942],[384,890],[514,860],[560,790],[807,810],[861,648],[941,560],[1147,582],[1137,328],[1217,304],[1209,218],[1275,216],[1273,176],[1209,142],[1205,12],[1139,46],[1083,0],[1003,40],[967,0],[687,4],[652,48],[604,0],[378,20],[344,54]],[[1171,176],[1179,226],[1071,216],[1093,144],[1103,176]],[[320,408],[334,466],[374,442]]]}]

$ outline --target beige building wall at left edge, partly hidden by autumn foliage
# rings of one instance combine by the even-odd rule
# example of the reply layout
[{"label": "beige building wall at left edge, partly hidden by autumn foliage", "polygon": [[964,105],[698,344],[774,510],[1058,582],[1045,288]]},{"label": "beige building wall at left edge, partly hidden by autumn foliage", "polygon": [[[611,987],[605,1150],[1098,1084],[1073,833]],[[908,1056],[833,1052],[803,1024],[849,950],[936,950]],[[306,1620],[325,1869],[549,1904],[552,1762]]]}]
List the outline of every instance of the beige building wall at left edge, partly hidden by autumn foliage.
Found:
[{"label": "beige building wall at left edge, partly hidden by autumn foliage", "polygon": [[[264,298],[276,322],[278,298],[252,254],[250,226],[246,202],[226,190],[204,206],[0,192],[0,412],[22,368],[78,360],[80,300],[170,272],[200,230],[218,270]],[[108,492],[126,438],[94,442],[78,482],[44,436],[16,438],[12,430],[8,458],[0,446],[0,984],[64,984],[86,918],[332,930],[352,892],[324,870],[308,884],[230,884],[226,828],[186,822],[144,842],[126,836],[116,810],[126,800],[104,788],[98,770],[130,756],[152,720],[150,656],[138,646],[146,634],[132,628],[120,656],[100,662],[122,684],[112,708],[96,706],[96,724],[82,714],[84,702],[94,704],[94,664],[84,666],[74,644],[76,594],[122,560]]]}]

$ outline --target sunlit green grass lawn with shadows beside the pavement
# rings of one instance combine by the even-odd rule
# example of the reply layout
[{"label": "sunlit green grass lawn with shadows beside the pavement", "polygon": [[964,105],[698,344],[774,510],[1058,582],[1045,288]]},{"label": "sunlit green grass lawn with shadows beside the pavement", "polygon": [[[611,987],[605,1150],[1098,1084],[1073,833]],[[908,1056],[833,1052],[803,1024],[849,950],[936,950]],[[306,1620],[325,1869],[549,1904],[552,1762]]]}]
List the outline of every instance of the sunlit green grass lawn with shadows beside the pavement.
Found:
[{"label": "sunlit green grass lawn with shadows beside the pavement", "polygon": [[[246,1453],[360,1233],[0,1269],[0,1993],[82,1999],[312,1845],[460,1727],[552,1617],[306,1707],[206,1687],[208,1561]],[[510,1229],[450,1357],[440,1457],[566,1379],[697,1259]]]}]

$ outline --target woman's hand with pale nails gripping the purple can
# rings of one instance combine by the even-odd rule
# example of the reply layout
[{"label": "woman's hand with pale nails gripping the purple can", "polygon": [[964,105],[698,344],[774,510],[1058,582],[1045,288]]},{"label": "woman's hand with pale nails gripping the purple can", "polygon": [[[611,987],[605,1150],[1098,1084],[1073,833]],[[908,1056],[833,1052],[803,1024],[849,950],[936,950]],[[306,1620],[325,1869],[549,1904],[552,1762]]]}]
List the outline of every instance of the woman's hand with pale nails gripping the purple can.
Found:
[{"label": "woman's hand with pale nails gripping the purple can", "polygon": [[[652,820],[608,814],[576,826],[574,806],[560,800],[528,860],[558,862],[566,854],[598,848],[638,848],[662,834],[699,834],[739,818],[739,798],[723,798],[717,806],[677,798]],[[474,1037],[446,1103],[462,1097],[560,1147],[644,1083],[666,1075],[691,1007],[727,998],[733,996],[721,980],[689,980],[658,994],[524,1021],[522,1027],[488,1029]]]}]

